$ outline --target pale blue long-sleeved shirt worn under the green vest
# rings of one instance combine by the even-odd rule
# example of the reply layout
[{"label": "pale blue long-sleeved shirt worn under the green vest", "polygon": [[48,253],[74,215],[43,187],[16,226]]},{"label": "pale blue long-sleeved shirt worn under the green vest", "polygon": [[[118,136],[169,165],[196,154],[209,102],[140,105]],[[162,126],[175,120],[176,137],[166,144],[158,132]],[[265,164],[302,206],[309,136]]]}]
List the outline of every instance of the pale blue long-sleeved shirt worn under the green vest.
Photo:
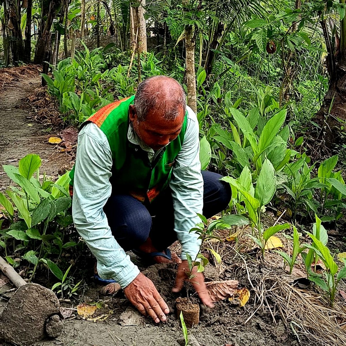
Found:
[{"label": "pale blue long-sleeved shirt worn under the green vest", "polygon": [[[173,167],[170,188],[173,196],[174,230],[182,245],[181,258],[194,258],[199,252],[200,240],[190,229],[199,222],[196,213],[203,208],[203,178],[199,161],[199,126],[195,113],[188,109],[184,141]],[[129,127],[128,140],[148,152],[147,147]],[[97,258],[97,270],[104,279],[116,280],[125,288],[139,274],[138,267],[119,246],[108,225],[103,207],[111,195],[112,156],[106,135],[95,124],[82,128],[73,184],[72,216],[75,227]]]}]

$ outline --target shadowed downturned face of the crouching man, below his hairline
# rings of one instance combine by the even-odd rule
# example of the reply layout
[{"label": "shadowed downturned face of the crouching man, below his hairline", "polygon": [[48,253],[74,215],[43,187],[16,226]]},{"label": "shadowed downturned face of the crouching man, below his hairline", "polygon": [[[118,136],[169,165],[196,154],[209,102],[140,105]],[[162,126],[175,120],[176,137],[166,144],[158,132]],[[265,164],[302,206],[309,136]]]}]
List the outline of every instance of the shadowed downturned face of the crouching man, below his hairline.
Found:
[{"label": "shadowed downturned face of the crouching man, below his hairline", "polygon": [[154,150],[161,149],[172,142],[181,131],[184,122],[184,110],[181,107],[179,115],[174,120],[165,120],[160,111],[150,111],[144,121],[138,121],[136,109],[129,107],[129,117],[138,137]]}]

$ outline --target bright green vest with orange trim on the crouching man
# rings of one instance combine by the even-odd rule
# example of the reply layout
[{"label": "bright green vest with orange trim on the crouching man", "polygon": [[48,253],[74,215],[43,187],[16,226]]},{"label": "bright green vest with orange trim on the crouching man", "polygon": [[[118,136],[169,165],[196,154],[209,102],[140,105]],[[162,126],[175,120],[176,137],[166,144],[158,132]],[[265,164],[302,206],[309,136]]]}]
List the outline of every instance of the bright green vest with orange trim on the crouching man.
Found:
[{"label": "bright green vest with orange trim on the crouching man", "polygon": [[[150,163],[148,153],[129,142],[129,105],[135,96],[108,104],[87,119],[96,124],[106,135],[112,153],[112,194],[130,194],[137,200],[152,202],[164,190],[171,179],[175,158],[183,144],[187,124],[187,111],[181,132],[166,145]],[[78,174],[78,172],[76,173]],[[73,185],[74,167],[70,173]]]}]

